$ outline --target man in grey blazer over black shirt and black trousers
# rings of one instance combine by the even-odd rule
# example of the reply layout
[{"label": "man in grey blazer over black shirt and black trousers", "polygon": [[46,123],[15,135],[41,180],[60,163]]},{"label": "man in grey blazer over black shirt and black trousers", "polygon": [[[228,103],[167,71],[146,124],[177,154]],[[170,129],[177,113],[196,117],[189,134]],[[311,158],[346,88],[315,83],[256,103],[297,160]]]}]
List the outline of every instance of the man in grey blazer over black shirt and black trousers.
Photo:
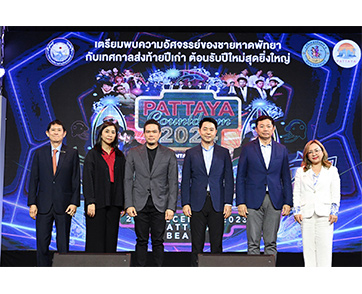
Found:
[{"label": "man in grey blazer over black shirt and black trousers", "polygon": [[173,218],[178,194],[175,152],[159,144],[161,126],[150,119],[144,125],[146,144],[132,148],[125,171],[125,208],[134,217],[137,236],[137,266],[145,266],[151,230],[153,257],[157,266],[164,259],[166,220]]}]

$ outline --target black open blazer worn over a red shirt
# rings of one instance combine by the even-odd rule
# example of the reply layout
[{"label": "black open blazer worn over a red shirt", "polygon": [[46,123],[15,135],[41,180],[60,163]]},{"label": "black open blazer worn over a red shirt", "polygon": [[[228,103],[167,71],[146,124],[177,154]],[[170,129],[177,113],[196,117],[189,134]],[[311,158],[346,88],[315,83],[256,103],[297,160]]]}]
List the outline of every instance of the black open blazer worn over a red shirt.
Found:
[{"label": "black open blazer worn over a red shirt", "polygon": [[[122,151],[115,150],[114,162],[114,194],[111,205],[124,207],[124,169],[126,159]],[[89,204],[95,203],[96,209],[106,207],[106,197],[111,193],[111,181],[106,161],[99,147],[91,149],[84,160],[83,166],[83,195],[85,210]]]}]

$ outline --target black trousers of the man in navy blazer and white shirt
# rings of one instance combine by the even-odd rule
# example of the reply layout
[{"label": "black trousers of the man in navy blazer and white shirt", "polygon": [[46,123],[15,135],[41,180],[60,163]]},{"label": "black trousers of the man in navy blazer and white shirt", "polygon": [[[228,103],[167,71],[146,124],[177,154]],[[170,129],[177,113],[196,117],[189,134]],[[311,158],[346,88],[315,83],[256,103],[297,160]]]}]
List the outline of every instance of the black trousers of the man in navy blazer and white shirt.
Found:
[{"label": "black trousers of the man in navy blazer and white shirt", "polygon": [[206,226],[209,227],[211,253],[222,253],[224,215],[212,207],[211,197],[207,196],[201,211],[192,211],[191,227],[191,266],[198,266],[197,254],[204,251]]}]

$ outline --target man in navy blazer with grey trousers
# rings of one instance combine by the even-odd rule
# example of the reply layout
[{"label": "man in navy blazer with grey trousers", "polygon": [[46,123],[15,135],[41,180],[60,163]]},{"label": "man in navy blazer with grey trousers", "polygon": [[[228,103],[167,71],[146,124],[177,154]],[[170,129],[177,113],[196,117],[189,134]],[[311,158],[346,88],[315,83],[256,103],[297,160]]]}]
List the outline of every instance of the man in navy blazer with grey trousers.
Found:
[{"label": "man in navy blazer with grey trousers", "polygon": [[289,215],[293,206],[288,151],[272,140],[275,126],[270,116],[260,116],[255,131],[258,138],[241,149],[236,206],[247,218],[248,254],[260,254],[263,235],[264,254],[276,256],[280,213]]}]

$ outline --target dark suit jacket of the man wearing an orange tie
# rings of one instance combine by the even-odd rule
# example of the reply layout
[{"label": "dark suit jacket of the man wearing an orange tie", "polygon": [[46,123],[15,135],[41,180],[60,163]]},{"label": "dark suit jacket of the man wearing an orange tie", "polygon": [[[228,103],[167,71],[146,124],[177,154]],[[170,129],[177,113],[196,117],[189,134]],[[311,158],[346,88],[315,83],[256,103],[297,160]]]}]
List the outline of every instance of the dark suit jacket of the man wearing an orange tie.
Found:
[{"label": "dark suit jacket of the man wearing an orange tie", "polygon": [[35,151],[28,192],[28,206],[33,204],[37,206],[39,213],[48,213],[53,206],[57,214],[65,214],[70,204],[80,205],[77,150],[62,145],[55,175],[50,144]]}]

